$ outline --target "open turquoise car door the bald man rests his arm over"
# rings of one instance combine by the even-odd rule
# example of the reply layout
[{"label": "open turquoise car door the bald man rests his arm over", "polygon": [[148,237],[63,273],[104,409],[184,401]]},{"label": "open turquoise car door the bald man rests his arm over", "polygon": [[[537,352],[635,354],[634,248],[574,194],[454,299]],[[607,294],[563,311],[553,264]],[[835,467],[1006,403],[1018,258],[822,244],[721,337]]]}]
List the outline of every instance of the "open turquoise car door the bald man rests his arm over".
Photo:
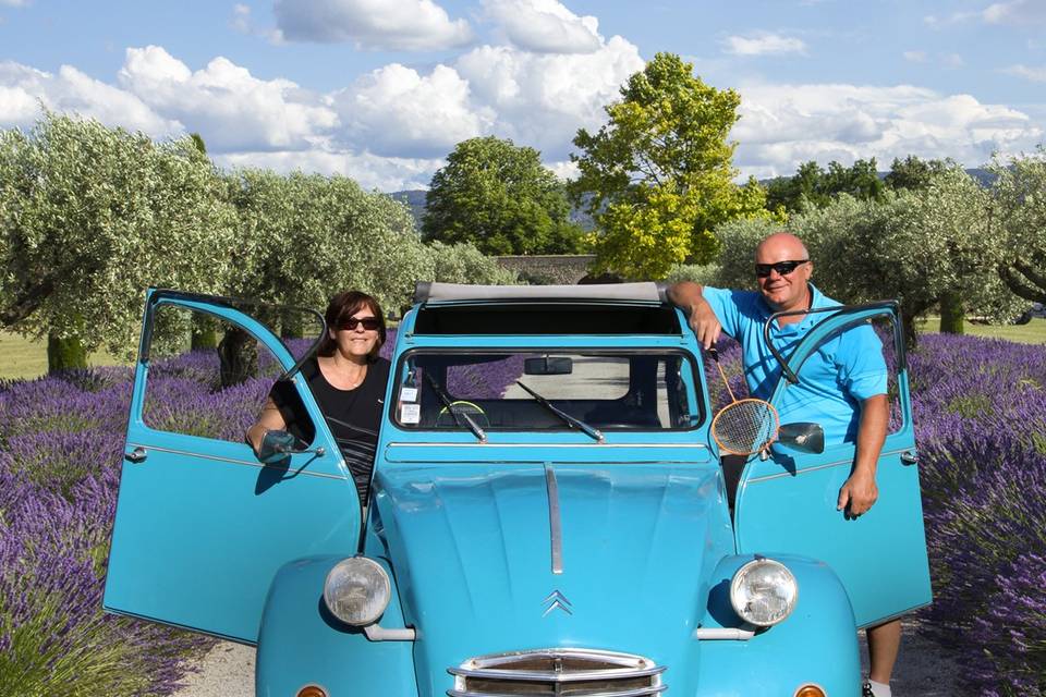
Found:
[{"label": "open turquoise car door the bald man rests his arm over", "polygon": [[[837,511],[850,476],[852,442],[829,442],[823,453],[775,443],[770,456],[753,456],[738,488],[735,534],[741,552],[793,552],[827,563],[842,580],[858,626],[871,626],[932,600],[911,398],[899,311],[893,303],[832,308],[786,359],[770,402],[780,408],[791,382],[814,378],[817,352],[832,355],[847,332],[878,334],[889,372],[891,419],[879,456],[879,497],[860,517]],[[875,339],[872,340],[875,342]],[[824,365],[823,363],[820,365]],[[823,376],[820,376],[823,377]],[[782,414],[782,421],[789,420]]]}]

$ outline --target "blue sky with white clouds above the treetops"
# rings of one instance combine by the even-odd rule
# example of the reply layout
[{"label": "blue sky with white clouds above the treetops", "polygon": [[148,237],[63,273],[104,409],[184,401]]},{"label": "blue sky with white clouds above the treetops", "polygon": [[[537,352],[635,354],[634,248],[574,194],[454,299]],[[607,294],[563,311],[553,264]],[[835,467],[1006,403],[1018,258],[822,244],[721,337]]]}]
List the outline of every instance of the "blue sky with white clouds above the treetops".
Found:
[{"label": "blue sky with white clouds above the treetops", "polygon": [[381,191],[497,135],[569,176],[576,130],[658,51],[741,94],[745,175],[1046,140],[1046,0],[0,0],[0,127],[42,103]]}]

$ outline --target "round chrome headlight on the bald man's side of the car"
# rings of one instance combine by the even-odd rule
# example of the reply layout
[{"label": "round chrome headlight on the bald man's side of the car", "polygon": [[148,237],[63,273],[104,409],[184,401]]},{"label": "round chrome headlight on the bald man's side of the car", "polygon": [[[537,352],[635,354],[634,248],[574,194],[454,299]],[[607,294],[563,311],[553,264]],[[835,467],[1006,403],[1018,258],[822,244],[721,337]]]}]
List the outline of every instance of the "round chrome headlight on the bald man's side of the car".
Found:
[{"label": "round chrome headlight on the bald man's side of the car", "polygon": [[730,603],[738,616],[758,627],[783,621],[795,609],[798,599],[795,576],[771,559],[752,560],[730,582]]}]

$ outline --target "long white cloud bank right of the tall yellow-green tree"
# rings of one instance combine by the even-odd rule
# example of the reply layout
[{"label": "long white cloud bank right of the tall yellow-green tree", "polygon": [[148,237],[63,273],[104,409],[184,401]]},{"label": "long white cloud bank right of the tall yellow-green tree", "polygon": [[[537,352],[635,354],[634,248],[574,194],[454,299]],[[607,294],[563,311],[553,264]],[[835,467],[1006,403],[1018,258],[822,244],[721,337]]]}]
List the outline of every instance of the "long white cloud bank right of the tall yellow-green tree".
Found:
[{"label": "long white cloud bank right of the tall yellow-green tree", "polygon": [[908,155],[975,167],[1044,136],[1021,111],[907,85],[754,84],[740,91],[742,118],[730,134],[740,143],[735,163],[758,178],[791,174],[807,160],[875,157],[885,169]]}]

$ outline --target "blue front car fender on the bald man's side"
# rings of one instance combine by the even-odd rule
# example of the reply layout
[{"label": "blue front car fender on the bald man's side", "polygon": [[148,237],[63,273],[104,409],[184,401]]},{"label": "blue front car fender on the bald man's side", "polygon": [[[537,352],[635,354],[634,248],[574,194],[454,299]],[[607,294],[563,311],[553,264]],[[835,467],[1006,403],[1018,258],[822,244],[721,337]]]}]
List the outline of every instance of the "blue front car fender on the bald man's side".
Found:
[{"label": "blue front car fender on the bald man's side", "polygon": [[[696,695],[788,697],[807,683],[831,697],[860,695],[856,625],[846,589],[825,563],[794,554],[767,553],[795,576],[799,598],[783,622],[751,638],[698,639]],[[730,604],[730,580],[753,555],[730,555],[713,573],[701,628],[745,627]],[[700,629],[698,629],[700,632]]]}]

